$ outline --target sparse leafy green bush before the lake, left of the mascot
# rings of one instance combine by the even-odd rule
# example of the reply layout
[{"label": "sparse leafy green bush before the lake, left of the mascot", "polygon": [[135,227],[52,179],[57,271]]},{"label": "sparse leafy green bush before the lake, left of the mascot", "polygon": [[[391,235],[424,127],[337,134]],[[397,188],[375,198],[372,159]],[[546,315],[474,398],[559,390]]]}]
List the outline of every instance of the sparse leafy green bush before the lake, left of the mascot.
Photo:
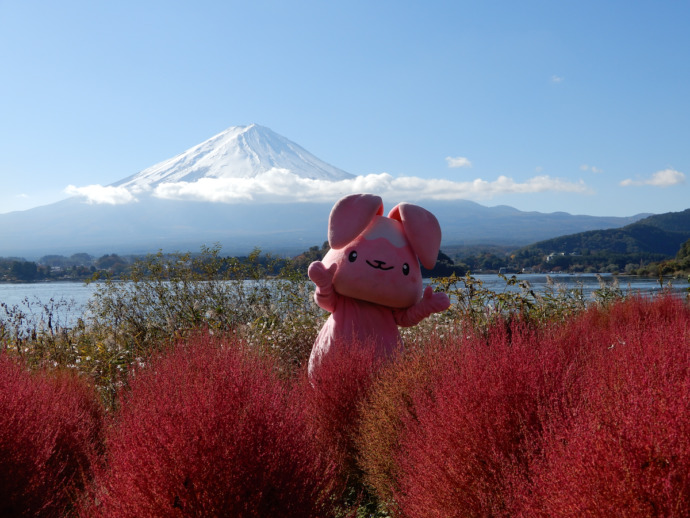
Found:
[{"label": "sparse leafy green bush before the lake, left of the mascot", "polygon": [[278,356],[301,363],[318,329],[320,310],[310,283],[289,262],[158,253],[135,262],[122,279],[106,279],[89,304],[89,329],[126,358],[141,361],[189,332],[239,335]]}]

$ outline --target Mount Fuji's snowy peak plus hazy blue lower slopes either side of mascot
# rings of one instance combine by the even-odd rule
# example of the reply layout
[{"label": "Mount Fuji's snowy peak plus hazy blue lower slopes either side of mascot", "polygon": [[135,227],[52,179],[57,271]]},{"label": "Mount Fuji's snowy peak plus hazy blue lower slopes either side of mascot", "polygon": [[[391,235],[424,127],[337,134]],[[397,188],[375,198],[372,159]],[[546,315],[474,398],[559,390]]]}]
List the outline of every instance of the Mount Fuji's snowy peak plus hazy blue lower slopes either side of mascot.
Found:
[{"label": "Mount Fuji's snowy peak plus hazy blue lower slopes either side of mascot", "polygon": [[[107,193],[124,193],[132,198],[130,203],[86,203],[89,200],[85,196],[74,196],[0,214],[0,256],[196,251],[201,245],[214,243],[221,244],[227,254],[243,254],[254,247],[297,254],[326,240],[333,202],[348,193],[334,188],[333,200],[327,203],[281,203],[275,196],[252,197],[243,191],[247,182],[258,182],[259,186],[261,181],[280,183],[287,174],[303,185],[321,181],[337,186],[336,182],[356,178],[268,128],[232,127],[169,160],[100,188]],[[285,188],[294,189],[294,185],[302,184],[293,181]],[[216,186],[223,187],[218,199],[204,201],[215,199]],[[205,197],[195,197],[202,188]],[[566,234],[624,227],[648,216],[523,212],[466,200],[418,203],[439,219],[442,247],[518,247]]]}]

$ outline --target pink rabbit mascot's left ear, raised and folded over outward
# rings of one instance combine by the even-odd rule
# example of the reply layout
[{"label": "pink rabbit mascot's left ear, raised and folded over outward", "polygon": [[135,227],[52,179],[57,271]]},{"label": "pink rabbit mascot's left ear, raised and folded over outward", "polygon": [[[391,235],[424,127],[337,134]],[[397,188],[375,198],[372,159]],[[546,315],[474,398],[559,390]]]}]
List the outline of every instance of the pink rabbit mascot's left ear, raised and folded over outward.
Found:
[{"label": "pink rabbit mascot's left ear, raised and folded over outward", "polygon": [[328,218],[328,244],[336,250],[343,248],[369,226],[374,216],[383,216],[380,196],[351,194],[341,198]]}]

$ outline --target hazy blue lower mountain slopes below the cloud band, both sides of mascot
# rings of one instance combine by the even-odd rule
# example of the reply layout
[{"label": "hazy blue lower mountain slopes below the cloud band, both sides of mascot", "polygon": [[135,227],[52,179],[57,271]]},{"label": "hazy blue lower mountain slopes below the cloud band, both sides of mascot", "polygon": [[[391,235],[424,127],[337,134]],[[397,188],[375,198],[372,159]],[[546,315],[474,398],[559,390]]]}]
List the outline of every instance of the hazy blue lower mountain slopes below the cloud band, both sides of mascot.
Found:
[{"label": "hazy blue lower mountain slopes below the cloud band, both sides of mascot", "polygon": [[[631,218],[560,216],[539,212],[495,214],[475,202],[421,204],[439,220],[444,246],[526,246],[541,239],[628,224]],[[222,204],[151,198],[124,206],[75,199],[29,211],[0,214],[0,256],[47,253],[194,251],[220,244],[229,254],[264,251],[298,254],[327,239],[331,203]],[[29,237],[31,236],[31,237]]]}]

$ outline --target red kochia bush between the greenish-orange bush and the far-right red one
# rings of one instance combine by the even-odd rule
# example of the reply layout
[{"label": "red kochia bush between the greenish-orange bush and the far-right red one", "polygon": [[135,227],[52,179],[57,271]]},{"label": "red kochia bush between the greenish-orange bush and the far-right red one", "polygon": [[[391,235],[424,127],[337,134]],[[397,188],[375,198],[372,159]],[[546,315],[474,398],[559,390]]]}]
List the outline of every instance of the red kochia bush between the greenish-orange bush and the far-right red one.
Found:
[{"label": "red kochia bush between the greenish-orange bush and the far-right red one", "polygon": [[577,341],[556,347],[550,327],[498,322],[455,338],[429,389],[403,419],[395,465],[400,514],[513,516],[545,416],[560,412],[582,368]]}]

